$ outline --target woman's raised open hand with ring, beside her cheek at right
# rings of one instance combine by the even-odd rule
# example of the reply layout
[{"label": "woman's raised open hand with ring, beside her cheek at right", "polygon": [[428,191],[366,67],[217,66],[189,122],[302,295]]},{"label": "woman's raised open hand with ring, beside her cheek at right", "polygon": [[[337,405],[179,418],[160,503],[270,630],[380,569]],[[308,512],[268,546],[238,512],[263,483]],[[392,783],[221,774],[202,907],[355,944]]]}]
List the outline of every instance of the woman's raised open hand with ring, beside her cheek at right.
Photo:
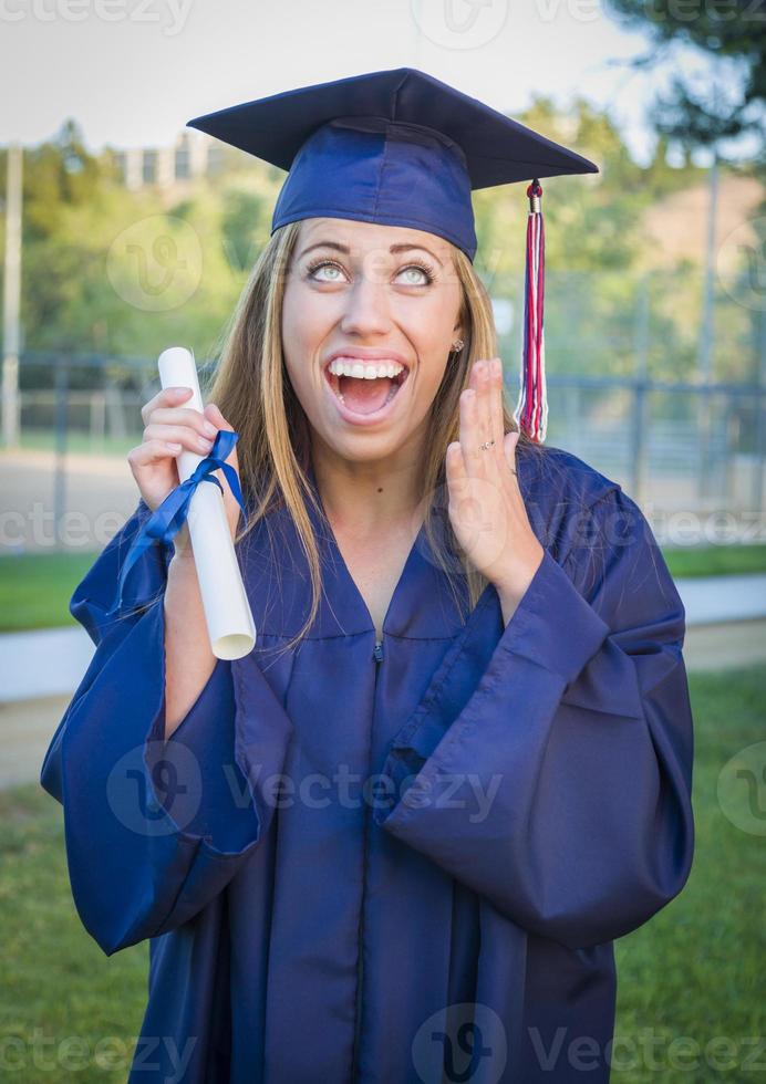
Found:
[{"label": "woman's raised open hand with ring, beside her cheek at right", "polygon": [[[482,449],[488,440],[495,444]],[[449,520],[475,567],[509,607],[521,600],[545,550],[529,523],[516,470],[518,432],[503,431],[503,365],[477,361],[460,394],[460,439],[447,447]]]}]

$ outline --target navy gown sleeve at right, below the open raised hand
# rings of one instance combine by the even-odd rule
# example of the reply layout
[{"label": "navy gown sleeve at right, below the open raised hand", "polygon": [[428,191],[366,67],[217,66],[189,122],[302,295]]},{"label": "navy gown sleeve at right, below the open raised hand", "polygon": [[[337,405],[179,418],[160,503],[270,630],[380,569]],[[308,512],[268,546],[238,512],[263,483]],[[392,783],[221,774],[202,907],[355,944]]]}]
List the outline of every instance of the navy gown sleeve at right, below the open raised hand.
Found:
[{"label": "navy gown sleeve at right, below the open raised hand", "polygon": [[545,550],[478,684],[454,659],[436,676],[386,751],[373,809],[569,948],[646,921],[683,888],[694,850],[683,604],[622,490],[588,511],[589,538],[561,563]]}]

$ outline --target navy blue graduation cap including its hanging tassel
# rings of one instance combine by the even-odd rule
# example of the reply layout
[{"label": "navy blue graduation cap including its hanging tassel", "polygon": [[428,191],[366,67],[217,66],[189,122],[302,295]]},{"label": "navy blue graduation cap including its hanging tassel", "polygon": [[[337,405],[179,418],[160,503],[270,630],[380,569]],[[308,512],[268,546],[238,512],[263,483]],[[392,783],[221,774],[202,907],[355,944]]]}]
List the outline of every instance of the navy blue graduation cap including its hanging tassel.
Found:
[{"label": "navy blue graduation cap including its hanging tassel", "polygon": [[289,170],[271,232],[304,218],[408,226],[476,256],[470,192],[527,188],[525,333],[516,423],[545,440],[545,230],[540,177],[598,173],[477,98],[413,67],[301,86],[188,122]]}]

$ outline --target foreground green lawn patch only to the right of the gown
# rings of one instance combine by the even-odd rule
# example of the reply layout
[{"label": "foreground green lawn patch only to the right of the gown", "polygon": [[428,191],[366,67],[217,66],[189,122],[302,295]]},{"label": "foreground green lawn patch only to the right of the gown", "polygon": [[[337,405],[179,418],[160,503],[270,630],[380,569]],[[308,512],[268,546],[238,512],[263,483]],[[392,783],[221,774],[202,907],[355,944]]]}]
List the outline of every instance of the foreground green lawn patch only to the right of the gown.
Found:
[{"label": "foreground green lawn patch only to the right of the gown", "polygon": [[[613,1073],[625,1084],[739,1082],[765,1075],[763,1067],[755,1072],[747,1059],[757,1052],[754,1040],[766,1035],[766,837],[748,834],[724,816],[716,784],[721,769],[735,753],[764,741],[766,667],[694,674],[690,687],[696,748],[692,873],[680,896],[640,930],[615,942],[617,1033],[632,1039],[639,1062],[645,1061],[639,1040],[642,1034],[653,1035],[662,1067],[652,1071],[643,1064],[632,1072]],[[766,806],[766,795],[760,805]],[[681,1050],[680,1036],[690,1041],[685,1049],[691,1053]],[[735,1064],[728,1070],[723,1067],[723,1046],[718,1063],[705,1053],[716,1036],[733,1044]],[[673,1040],[675,1047],[671,1047]],[[690,1065],[695,1050],[696,1067],[673,1066],[674,1052],[680,1052],[681,1065]],[[631,1047],[624,1047],[623,1056],[629,1052]],[[766,1064],[766,1040],[753,1064]]]}]

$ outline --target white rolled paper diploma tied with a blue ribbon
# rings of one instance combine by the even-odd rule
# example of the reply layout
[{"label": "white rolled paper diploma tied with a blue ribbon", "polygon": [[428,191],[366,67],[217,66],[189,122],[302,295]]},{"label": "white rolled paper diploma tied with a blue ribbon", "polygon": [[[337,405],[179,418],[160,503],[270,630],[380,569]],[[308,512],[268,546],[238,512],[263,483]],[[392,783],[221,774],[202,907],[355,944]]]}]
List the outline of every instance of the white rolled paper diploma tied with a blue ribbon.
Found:
[{"label": "white rolled paper diploma tied with a blue ribbon", "polygon": [[[204,404],[192,353],[183,346],[170,346],[159,355],[157,365],[163,388],[192,388],[192,398],[182,405],[201,414]],[[182,482],[204,458],[186,448],[176,457]],[[221,484],[228,484],[226,478]],[[256,625],[231,541],[224,494],[214,482],[197,486],[186,522],[213,654],[221,659],[241,658],[255,647]]]}]

